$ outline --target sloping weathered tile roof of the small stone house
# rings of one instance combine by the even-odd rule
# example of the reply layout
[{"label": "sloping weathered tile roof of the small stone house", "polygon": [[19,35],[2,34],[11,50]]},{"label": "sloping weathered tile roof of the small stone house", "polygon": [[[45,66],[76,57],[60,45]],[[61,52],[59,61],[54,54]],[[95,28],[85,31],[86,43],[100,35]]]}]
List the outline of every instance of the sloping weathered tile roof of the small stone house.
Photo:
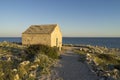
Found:
[{"label": "sloping weathered tile roof of the small stone house", "polygon": [[23,34],[50,34],[57,24],[31,25]]}]

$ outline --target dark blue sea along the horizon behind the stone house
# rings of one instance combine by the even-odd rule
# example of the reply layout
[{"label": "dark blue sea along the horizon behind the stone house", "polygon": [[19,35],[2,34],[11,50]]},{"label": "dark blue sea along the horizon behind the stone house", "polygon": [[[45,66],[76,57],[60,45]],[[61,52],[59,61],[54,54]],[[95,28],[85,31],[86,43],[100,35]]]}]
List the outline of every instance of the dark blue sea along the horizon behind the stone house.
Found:
[{"label": "dark blue sea along the horizon behind the stone house", "polygon": [[[21,37],[0,37],[0,42],[21,43]],[[63,44],[80,44],[103,46],[108,48],[120,48],[120,37],[63,37]]]}]

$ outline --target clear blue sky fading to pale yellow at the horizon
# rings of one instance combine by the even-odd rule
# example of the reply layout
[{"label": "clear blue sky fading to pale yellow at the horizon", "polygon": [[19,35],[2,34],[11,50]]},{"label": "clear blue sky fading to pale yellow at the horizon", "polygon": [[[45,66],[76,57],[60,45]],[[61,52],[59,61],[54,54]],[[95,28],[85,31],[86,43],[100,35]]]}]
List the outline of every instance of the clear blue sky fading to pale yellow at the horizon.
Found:
[{"label": "clear blue sky fading to pale yellow at the horizon", "polygon": [[52,23],[64,37],[120,37],[120,0],[0,0],[0,37]]}]

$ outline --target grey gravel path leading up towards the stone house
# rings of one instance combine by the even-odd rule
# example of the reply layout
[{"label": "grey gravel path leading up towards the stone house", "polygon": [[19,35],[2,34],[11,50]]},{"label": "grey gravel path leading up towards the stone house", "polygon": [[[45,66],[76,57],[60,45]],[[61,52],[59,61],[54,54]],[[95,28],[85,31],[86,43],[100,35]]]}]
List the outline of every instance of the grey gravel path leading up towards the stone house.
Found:
[{"label": "grey gravel path leading up towards the stone house", "polygon": [[61,57],[51,76],[43,80],[98,80],[87,64],[78,61],[79,55],[68,50]]}]

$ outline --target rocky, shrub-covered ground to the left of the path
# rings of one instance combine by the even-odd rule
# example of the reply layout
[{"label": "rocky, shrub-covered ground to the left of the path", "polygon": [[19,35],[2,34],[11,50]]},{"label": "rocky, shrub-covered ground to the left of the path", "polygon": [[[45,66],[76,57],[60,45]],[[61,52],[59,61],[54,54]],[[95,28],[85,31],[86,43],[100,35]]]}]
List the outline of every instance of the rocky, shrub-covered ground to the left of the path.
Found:
[{"label": "rocky, shrub-covered ground to the left of the path", "polygon": [[[41,47],[54,53],[51,47]],[[0,42],[0,80],[39,80],[42,74],[50,74],[56,59],[42,53],[35,47]]]}]

